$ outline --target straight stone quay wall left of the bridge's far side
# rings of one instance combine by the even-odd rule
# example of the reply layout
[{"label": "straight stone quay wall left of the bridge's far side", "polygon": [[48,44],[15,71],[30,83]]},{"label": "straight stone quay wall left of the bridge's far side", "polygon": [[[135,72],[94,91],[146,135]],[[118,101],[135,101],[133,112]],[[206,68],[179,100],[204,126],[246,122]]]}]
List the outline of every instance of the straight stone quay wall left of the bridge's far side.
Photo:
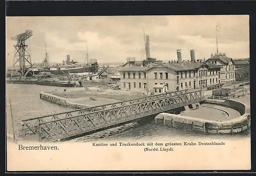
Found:
[{"label": "straight stone quay wall left of the bridge's far side", "polygon": [[40,99],[55,103],[60,106],[69,107],[73,109],[88,108],[88,106],[84,106],[75,102],[70,102],[69,99],[67,98],[59,97],[53,94],[48,94],[46,92],[40,92],[39,95],[40,95]]}]

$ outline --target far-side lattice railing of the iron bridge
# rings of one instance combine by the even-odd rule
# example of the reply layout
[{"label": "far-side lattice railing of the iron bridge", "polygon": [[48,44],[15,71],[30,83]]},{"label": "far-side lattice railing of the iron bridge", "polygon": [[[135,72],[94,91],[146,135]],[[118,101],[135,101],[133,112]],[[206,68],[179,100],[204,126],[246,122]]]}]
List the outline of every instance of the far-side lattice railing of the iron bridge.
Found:
[{"label": "far-side lattice railing of the iron bridge", "polygon": [[48,121],[56,120],[56,119],[66,119],[68,117],[74,117],[74,116],[83,115],[83,114],[87,114],[87,113],[91,113],[91,112],[95,112],[95,111],[108,110],[108,109],[112,109],[114,107],[122,107],[122,106],[131,105],[131,104],[138,103],[138,102],[145,102],[148,100],[154,100],[154,99],[159,99],[159,98],[163,98],[163,97],[170,97],[170,96],[173,96],[176,94],[184,94],[184,93],[187,93],[187,90],[180,90],[177,92],[158,94],[158,95],[153,95],[153,96],[147,96],[144,98],[137,98],[137,99],[133,99],[133,100],[116,102],[116,103],[111,103],[111,104],[106,104],[106,105],[101,105],[101,106],[93,106],[93,107],[83,108],[83,109],[74,110],[74,111],[67,111],[67,112],[53,114],[53,115],[46,115],[46,116],[42,116],[42,117],[24,119],[24,120],[22,120],[22,129],[20,130],[19,137],[25,137],[26,135],[38,134],[39,123],[48,122]]}]

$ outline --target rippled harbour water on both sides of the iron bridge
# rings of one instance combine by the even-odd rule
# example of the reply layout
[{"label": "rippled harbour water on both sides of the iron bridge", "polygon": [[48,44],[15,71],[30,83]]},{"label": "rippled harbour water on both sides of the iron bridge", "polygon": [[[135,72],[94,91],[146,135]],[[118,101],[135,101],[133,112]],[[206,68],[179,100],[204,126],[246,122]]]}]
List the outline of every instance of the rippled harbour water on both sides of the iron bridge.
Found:
[{"label": "rippled harbour water on both sides of the iron bridge", "polygon": [[[14,131],[18,135],[21,120],[44,115],[51,115],[72,109],[43,101],[39,98],[40,91],[62,89],[54,86],[40,86],[28,84],[6,84],[6,124],[7,133],[13,134],[12,118],[9,98],[11,99]],[[64,89],[64,88],[63,88]],[[65,88],[68,89],[68,88]],[[237,135],[205,135],[182,131],[170,127],[153,124],[147,120],[140,123],[129,123],[120,127],[100,131],[92,135],[72,139],[69,142],[87,142],[94,140],[161,140],[161,139],[237,139],[249,137],[250,134]]]}]

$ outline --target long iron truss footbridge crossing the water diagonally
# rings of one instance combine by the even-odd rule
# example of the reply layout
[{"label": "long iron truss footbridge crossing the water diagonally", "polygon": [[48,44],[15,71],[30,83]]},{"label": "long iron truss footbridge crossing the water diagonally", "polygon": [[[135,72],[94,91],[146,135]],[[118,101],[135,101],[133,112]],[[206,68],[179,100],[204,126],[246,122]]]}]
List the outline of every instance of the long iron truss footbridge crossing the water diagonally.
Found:
[{"label": "long iron truss footbridge crossing the water diagonally", "polygon": [[202,90],[187,90],[94,106],[22,120],[19,137],[56,141],[115,127],[145,116],[205,100]]}]

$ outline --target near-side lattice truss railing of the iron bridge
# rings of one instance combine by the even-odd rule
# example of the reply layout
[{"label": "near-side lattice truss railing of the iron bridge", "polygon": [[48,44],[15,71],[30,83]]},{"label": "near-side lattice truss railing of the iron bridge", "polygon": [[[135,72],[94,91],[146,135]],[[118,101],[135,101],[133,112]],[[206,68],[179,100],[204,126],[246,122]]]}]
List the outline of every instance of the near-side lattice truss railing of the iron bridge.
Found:
[{"label": "near-side lattice truss railing of the iron bridge", "polygon": [[55,141],[90,131],[105,129],[118,123],[172,110],[180,106],[203,101],[204,99],[200,90],[147,100],[145,102],[137,102],[122,107],[113,107],[112,109],[90,112],[65,119],[39,122],[39,141]]}]

